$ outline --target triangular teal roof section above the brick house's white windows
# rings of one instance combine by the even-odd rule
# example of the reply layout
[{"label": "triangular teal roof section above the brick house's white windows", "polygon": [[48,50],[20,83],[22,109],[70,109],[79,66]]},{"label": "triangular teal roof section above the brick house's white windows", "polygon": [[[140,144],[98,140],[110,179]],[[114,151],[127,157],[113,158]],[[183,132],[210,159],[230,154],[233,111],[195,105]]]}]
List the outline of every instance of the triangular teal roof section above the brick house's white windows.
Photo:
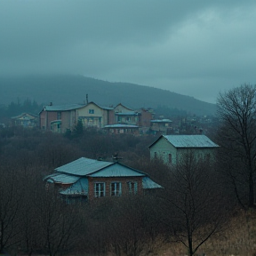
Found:
[{"label": "triangular teal roof section above the brick house's white windows", "polygon": [[123,164],[115,163],[100,170],[99,172],[93,172],[88,175],[89,177],[143,177],[145,173],[134,170]]}]

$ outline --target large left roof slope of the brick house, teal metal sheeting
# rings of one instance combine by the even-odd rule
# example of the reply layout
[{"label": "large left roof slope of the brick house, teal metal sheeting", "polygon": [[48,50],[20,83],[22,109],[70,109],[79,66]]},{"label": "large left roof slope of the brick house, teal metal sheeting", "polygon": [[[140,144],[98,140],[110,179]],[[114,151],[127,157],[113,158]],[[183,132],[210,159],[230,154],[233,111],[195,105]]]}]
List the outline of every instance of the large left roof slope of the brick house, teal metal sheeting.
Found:
[{"label": "large left roof slope of the brick house, teal metal sheeting", "polygon": [[113,163],[81,157],[71,163],[56,168],[55,171],[85,176],[92,172],[99,171],[101,168],[107,167],[111,164]]}]

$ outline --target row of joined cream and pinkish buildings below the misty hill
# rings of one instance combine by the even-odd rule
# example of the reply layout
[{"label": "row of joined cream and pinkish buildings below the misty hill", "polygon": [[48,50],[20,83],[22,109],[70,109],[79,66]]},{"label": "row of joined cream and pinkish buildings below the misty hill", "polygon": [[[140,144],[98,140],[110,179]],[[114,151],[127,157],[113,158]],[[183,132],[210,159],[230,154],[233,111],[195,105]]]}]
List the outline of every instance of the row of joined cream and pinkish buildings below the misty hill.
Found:
[{"label": "row of joined cream and pinkish buildings below the misty hill", "polygon": [[44,106],[39,113],[39,126],[44,131],[64,133],[73,131],[78,121],[84,128],[104,129],[109,133],[140,134],[148,132],[152,113],[145,108],[132,110],[121,103],[102,107],[95,102],[62,106]]}]

